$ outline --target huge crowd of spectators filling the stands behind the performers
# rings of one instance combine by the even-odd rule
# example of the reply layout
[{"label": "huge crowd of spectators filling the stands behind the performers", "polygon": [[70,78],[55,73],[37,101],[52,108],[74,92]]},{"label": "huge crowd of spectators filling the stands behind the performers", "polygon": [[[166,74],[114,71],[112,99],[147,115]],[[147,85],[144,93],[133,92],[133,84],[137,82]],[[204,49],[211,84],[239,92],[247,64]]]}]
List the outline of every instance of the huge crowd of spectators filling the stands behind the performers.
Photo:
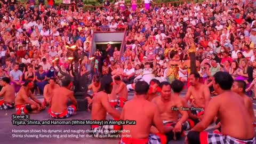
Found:
[{"label": "huge crowd of spectators filling the stands behind the performers", "polygon": [[[12,1],[11,1],[12,2]],[[245,11],[244,1],[184,2],[181,5],[145,5],[131,1],[103,2],[103,9],[85,11],[58,6],[4,3],[0,9],[0,77],[10,76],[15,88],[22,81],[36,82],[35,94],[42,93],[47,79],[62,79],[62,71],[74,76],[72,56],[66,45],[76,45],[81,61],[80,75],[120,75],[127,84],[144,73],[188,81],[189,48],[196,45],[198,72],[211,87],[217,71],[227,71],[248,85],[256,78],[256,14]],[[97,49],[90,64],[92,31],[127,30],[124,52],[108,44]],[[173,65],[173,61],[177,61]],[[146,66],[146,65],[149,65]],[[174,70],[173,67],[179,70]],[[171,81],[171,80],[170,80]],[[249,87],[250,86],[250,87]],[[212,91],[214,93],[214,91]]]}]

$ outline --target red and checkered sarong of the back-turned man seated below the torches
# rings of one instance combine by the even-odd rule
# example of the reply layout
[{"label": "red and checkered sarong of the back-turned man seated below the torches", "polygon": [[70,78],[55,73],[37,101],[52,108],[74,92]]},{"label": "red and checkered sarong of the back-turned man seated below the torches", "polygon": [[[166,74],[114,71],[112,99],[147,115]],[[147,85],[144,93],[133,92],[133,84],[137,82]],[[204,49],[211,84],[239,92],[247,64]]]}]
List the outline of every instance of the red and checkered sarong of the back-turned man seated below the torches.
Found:
[{"label": "red and checkered sarong of the back-turned man seated below the torches", "polygon": [[54,113],[51,108],[49,108],[48,113],[50,114],[50,116],[52,118],[68,118],[72,115],[74,115],[76,112],[76,106],[74,105],[70,105],[67,107],[67,109],[65,111],[63,111],[62,113]]}]

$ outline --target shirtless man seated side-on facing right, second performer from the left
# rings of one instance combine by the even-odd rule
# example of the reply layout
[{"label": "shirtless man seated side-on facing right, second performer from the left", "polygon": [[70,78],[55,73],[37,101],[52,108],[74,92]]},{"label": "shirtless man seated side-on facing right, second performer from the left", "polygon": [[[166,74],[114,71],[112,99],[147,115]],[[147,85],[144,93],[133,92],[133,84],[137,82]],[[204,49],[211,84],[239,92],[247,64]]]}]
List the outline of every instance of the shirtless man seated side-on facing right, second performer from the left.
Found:
[{"label": "shirtless man seated side-on facing right, second performer from the left", "polygon": [[39,111],[45,109],[44,105],[38,99],[36,99],[31,92],[31,89],[33,88],[34,82],[29,80],[27,80],[25,84],[21,86],[19,92],[17,93],[17,97],[15,98],[17,115],[39,113]]}]

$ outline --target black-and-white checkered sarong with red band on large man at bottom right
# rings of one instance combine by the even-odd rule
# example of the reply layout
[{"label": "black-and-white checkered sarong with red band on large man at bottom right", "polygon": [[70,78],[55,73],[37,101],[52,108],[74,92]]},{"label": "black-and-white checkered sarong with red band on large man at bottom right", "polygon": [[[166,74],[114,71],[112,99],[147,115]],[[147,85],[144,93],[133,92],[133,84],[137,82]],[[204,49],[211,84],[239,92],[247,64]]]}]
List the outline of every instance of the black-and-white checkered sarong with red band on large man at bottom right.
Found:
[{"label": "black-and-white checkered sarong with red band on large man at bottom right", "polygon": [[202,144],[254,144],[255,138],[252,140],[239,140],[228,135],[222,135],[220,133],[201,132],[200,142]]}]

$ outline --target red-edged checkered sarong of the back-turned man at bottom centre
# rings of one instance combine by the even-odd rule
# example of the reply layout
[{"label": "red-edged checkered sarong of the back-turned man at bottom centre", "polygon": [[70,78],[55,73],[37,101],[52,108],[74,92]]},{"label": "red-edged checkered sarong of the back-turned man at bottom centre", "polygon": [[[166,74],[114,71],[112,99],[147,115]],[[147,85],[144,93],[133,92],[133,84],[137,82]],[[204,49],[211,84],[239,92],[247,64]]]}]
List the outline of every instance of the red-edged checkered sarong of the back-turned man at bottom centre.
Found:
[{"label": "red-edged checkered sarong of the back-turned man at bottom centre", "polygon": [[131,144],[131,143],[148,143],[148,144],[161,144],[166,143],[161,141],[159,135],[150,133],[148,139],[135,139],[135,138],[122,138],[120,144]]}]

